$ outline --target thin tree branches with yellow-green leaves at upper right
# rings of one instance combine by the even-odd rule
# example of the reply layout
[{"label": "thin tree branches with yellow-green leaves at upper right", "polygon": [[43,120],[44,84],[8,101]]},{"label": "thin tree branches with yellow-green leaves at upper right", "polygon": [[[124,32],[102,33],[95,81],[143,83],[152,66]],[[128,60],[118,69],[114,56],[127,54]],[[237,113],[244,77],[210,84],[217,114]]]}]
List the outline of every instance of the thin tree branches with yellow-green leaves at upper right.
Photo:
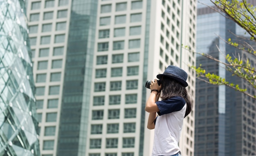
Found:
[{"label": "thin tree branches with yellow-green leaves at upper right", "polygon": [[[256,63],[254,64],[253,60],[256,60],[256,6],[247,3],[247,0],[215,0],[214,2],[211,0],[211,2],[215,7],[208,7],[211,7],[211,9],[214,9],[222,16],[234,21],[245,30],[247,36],[249,35],[248,38],[245,38],[234,34],[234,36],[236,36],[236,38],[239,40],[234,41],[233,39],[231,40],[231,38],[225,40],[228,45],[245,53],[247,57],[225,54],[226,61],[221,61],[207,53],[198,54],[224,65],[225,69],[231,72],[232,76],[242,78],[255,90]],[[218,50],[219,52],[222,52],[220,49]],[[204,69],[202,69],[201,65],[199,67],[191,66],[191,68],[196,71],[197,78],[204,80],[205,82],[213,85],[226,85],[256,99],[255,91],[249,92],[246,88],[242,88],[242,86],[239,86],[238,84],[227,82],[225,78],[221,78],[213,73],[207,73]]]}]

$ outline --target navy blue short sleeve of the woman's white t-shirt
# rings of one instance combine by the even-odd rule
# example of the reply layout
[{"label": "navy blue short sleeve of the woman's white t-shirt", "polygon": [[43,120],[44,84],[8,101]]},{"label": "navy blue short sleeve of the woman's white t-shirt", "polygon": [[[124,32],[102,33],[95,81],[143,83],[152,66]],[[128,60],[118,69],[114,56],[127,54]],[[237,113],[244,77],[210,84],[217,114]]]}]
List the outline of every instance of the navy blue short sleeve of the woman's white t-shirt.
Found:
[{"label": "navy blue short sleeve of the woman's white t-shirt", "polygon": [[186,104],[186,101],[180,96],[174,96],[168,100],[157,101],[156,104],[159,109],[157,114],[161,116],[174,111],[180,111]]}]

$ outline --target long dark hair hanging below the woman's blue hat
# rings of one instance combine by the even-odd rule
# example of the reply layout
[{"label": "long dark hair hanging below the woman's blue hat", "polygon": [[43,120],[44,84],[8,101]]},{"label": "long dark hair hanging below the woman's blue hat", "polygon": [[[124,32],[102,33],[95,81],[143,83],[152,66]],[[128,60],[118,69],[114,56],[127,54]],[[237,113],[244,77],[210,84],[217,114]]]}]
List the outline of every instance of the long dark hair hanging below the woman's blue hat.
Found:
[{"label": "long dark hair hanging below the woman's blue hat", "polygon": [[192,110],[193,103],[186,87],[183,87],[180,82],[166,76],[163,76],[160,81],[162,84],[162,100],[167,100],[173,96],[181,96],[186,101],[186,113],[184,117],[189,115]]}]

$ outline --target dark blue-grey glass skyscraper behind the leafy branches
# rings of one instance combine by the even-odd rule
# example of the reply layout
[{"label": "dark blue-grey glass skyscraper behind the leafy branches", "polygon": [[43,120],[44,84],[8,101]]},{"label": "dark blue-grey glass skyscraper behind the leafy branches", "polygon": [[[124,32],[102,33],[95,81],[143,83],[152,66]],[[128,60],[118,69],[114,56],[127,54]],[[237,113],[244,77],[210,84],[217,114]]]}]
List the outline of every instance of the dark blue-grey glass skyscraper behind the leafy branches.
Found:
[{"label": "dark blue-grey glass skyscraper behind the leafy branches", "polygon": [[[213,5],[209,1],[201,2]],[[198,4],[197,18],[197,52],[209,53],[223,62],[225,54],[233,56],[240,53],[241,56],[248,57],[243,51],[238,51],[222,40],[235,39],[230,33],[236,34],[239,29],[234,22],[202,4]],[[200,64],[207,73],[214,73],[228,82],[246,86],[251,93],[254,90],[213,60],[198,56],[197,66]],[[195,103],[196,156],[255,155],[256,106],[252,98],[229,87],[197,80]]]}]

